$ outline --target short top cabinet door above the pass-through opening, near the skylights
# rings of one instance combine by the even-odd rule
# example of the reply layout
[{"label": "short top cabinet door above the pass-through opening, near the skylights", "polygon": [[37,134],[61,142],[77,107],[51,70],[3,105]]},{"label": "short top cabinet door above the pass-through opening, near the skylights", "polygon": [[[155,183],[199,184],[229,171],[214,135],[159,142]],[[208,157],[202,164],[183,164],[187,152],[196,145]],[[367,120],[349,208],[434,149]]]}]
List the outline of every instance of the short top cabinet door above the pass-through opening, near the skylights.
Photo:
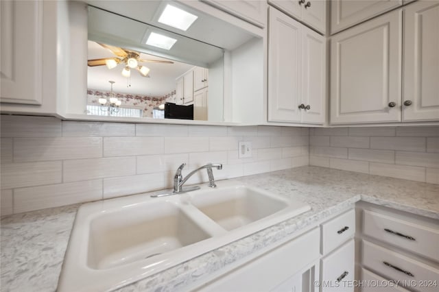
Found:
[{"label": "short top cabinet door above the pass-through opening, near the skylights", "polygon": [[267,1],[264,0],[205,0],[225,12],[233,14],[259,27],[267,25]]}]

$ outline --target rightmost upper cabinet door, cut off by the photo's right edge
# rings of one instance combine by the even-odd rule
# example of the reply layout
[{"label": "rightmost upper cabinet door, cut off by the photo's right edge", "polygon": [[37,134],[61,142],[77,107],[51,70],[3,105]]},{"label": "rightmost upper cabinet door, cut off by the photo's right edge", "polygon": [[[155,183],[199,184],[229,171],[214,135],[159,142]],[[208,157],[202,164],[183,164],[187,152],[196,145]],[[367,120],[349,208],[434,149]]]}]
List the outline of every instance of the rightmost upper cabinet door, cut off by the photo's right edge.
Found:
[{"label": "rightmost upper cabinet door, cut off by the photo's right edge", "polygon": [[403,121],[438,120],[439,1],[407,5],[404,29]]}]

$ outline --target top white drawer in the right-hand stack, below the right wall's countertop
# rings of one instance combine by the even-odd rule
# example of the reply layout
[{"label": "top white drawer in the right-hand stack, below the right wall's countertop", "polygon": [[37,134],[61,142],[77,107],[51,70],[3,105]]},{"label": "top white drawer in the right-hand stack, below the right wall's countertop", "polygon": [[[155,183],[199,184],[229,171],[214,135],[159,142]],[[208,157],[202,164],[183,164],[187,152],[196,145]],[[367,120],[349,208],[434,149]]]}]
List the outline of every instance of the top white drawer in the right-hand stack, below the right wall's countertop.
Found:
[{"label": "top white drawer in the right-hand stack, below the right wall's countertop", "polygon": [[369,210],[363,212],[363,224],[365,235],[439,261],[439,226],[435,229]]}]

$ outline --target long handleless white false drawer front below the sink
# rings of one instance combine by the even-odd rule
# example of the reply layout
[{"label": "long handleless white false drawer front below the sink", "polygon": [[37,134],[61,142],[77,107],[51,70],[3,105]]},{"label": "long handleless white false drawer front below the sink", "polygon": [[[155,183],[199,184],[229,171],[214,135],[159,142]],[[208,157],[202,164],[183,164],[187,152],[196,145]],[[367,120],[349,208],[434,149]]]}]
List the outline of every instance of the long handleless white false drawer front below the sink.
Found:
[{"label": "long handleless white false drawer front below the sink", "polygon": [[318,260],[319,245],[320,232],[318,228],[314,228],[195,290],[271,291]]}]

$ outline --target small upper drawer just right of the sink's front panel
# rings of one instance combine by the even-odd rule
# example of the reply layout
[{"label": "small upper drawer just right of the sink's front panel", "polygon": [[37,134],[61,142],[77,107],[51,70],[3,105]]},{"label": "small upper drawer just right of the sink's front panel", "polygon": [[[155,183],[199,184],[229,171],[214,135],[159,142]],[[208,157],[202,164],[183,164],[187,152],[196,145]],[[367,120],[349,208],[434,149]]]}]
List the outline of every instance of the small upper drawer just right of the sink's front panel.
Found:
[{"label": "small upper drawer just right of the sink's front panel", "polygon": [[325,255],[355,234],[355,210],[322,224],[322,254]]}]

